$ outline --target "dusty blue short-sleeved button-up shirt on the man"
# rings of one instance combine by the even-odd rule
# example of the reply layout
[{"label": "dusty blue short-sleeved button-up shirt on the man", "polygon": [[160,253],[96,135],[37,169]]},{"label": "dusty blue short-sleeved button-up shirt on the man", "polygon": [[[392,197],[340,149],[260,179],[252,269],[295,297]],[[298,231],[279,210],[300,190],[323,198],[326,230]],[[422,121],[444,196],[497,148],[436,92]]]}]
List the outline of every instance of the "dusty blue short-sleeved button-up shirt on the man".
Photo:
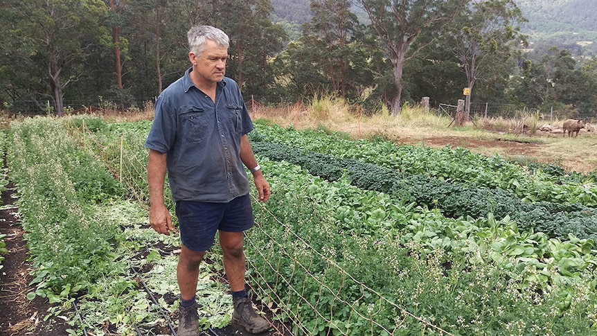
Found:
[{"label": "dusty blue short-sleeved button-up shirt on the man", "polygon": [[236,82],[217,83],[213,103],[190,80],[191,70],[157,98],[145,148],[167,154],[175,202],[229,202],[249,193],[240,138],[253,123]]}]

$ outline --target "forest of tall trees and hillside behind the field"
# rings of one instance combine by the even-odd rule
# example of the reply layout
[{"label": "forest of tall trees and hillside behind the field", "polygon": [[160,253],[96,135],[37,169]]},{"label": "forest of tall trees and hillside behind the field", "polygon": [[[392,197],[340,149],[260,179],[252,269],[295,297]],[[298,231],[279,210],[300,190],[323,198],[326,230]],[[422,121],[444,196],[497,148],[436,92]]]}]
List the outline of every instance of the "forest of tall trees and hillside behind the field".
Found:
[{"label": "forest of tall trees and hillside behind the field", "polygon": [[[594,118],[594,1],[3,0],[0,109],[136,111],[188,69],[186,31],[231,37],[246,100],[334,96],[364,113],[467,99]],[[580,8],[580,9],[579,9]],[[239,15],[242,13],[242,15]],[[555,15],[554,13],[557,13]],[[594,15],[592,16],[594,17]],[[470,96],[463,96],[463,89]]]}]

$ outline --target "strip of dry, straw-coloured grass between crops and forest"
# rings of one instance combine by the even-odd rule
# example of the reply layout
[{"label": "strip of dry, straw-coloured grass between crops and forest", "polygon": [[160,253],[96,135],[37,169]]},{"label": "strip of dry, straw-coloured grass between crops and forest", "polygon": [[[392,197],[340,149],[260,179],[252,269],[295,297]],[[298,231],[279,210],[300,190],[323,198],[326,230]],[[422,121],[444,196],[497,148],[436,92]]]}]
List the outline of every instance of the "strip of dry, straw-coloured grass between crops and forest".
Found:
[{"label": "strip of dry, straw-coloured grass between crops and forest", "polygon": [[[249,107],[251,109],[251,107]],[[578,138],[562,136],[563,120],[555,120],[553,132],[542,132],[538,114],[522,111],[515,118],[482,118],[454,127],[452,118],[425,113],[418,107],[403,109],[398,116],[380,111],[371,117],[362,116],[354,107],[339,100],[317,98],[311,105],[285,108],[257,107],[253,118],[296,130],[326,127],[344,132],[353,139],[381,137],[395,143],[462,146],[472,152],[492,156],[499,153],[519,162],[542,162],[561,166],[567,171],[588,173],[597,168],[597,134],[582,130]],[[457,144],[457,145],[455,145]]]}]

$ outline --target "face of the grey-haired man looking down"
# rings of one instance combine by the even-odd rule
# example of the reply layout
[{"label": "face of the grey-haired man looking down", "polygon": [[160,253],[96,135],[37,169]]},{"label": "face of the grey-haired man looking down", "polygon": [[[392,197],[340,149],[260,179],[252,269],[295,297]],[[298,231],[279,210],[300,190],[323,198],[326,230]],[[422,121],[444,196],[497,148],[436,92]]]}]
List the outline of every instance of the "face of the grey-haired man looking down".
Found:
[{"label": "face of the grey-haired man looking down", "polygon": [[211,85],[224,78],[228,48],[218,46],[214,41],[208,39],[201,55],[197,57],[194,53],[189,53],[189,59],[193,64],[193,71],[198,75],[197,80],[202,84]]}]

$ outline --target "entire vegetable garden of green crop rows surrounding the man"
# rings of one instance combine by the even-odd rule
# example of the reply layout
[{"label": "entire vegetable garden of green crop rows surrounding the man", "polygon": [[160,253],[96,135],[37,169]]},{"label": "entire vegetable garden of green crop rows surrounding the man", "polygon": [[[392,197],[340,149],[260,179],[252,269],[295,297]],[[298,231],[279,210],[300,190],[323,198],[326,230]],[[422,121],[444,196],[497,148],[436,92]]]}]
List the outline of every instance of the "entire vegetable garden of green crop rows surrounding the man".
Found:
[{"label": "entire vegetable garden of green crop rows surrounding the man", "polygon": [[[149,125],[35,118],[11,129],[34,293],[55,304],[48,319],[76,301],[73,334],[168,333],[159,310],[177,307],[179,243],[146,224]],[[283,332],[597,333],[594,174],[267,125],[251,141],[274,193],[255,203],[249,285]],[[217,247],[211,259],[202,326],[223,328]]]}]

